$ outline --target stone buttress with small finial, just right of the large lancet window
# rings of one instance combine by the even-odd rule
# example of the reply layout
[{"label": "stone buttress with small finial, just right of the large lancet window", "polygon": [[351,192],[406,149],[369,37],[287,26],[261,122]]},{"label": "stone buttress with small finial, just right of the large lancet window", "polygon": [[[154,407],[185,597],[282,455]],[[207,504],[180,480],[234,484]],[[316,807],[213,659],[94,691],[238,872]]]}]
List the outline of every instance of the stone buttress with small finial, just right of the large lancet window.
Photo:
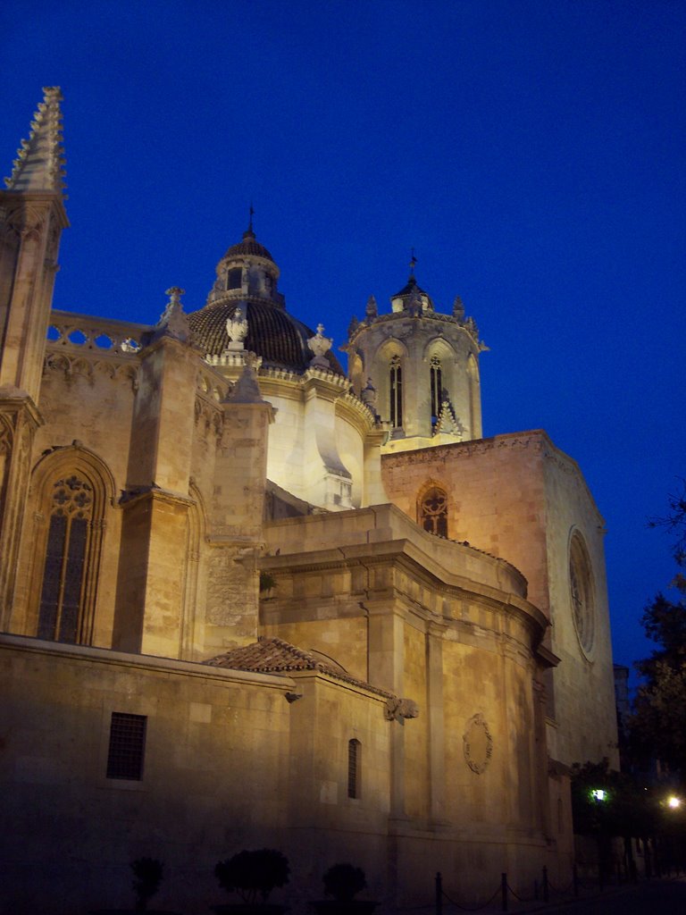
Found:
[{"label": "stone buttress with small finial, just right of the large lancet window", "polygon": [[135,395],[113,647],[177,658],[188,565],[198,354],[176,287],[143,352]]}]

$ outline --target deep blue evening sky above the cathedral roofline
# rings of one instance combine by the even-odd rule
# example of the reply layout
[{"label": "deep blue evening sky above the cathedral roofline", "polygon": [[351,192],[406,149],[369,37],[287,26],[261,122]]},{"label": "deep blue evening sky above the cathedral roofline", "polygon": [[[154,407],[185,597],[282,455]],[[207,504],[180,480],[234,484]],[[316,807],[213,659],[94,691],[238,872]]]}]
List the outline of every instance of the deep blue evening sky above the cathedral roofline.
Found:
[{"label": "deep blue evening sky above the cathedral roofline", "polygon": [[672,0],[5,0],[0,169],[61,86],[74,311],[201,307],[252,200],[338,346],[414,246],[490,347],[485,435],[542,427],[583,468],[630,663],[674,573],[646,518],[686,476],[684,48]]}]

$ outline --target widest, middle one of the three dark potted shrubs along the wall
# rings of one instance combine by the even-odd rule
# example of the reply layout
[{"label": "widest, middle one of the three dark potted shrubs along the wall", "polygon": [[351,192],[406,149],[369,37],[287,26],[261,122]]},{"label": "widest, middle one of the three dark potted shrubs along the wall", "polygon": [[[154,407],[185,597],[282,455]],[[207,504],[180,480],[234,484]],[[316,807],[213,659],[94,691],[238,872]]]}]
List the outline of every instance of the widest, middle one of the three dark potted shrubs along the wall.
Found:
[{"label": "widest, middle one of the three dark potted shrubs along the wall", "polygon": [[240,911],[243,915],[281,915],[287,906],[267,902],[272,890],[284,887],[290,874],[288,859],[273,848],[243,851],[219,861],[214,868],[220,887],[237,893],[242,902],[212,906],[217,915]]}]

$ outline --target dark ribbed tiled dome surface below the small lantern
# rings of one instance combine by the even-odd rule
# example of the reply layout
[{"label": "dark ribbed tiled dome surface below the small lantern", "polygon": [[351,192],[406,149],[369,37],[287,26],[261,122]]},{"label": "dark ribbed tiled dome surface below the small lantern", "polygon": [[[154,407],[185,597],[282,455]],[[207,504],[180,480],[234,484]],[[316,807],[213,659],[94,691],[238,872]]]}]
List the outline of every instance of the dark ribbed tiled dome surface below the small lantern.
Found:
[{"label": "dark ribbed tiled dome surface below the small lantern", "polygon": [[[239,248],[240,245],[234,247]],[[203,353],[220,356],[227,349],[229,335],[226,322],[233,318],[239,304],[235,299],[224,299],[188,315],[191,340]],[[307,346],[307,340],[315,336],[314,330],[283,308],[273,307],[269,301],[248,299],[244,307],[248,320],[244,346],[246,350],[262,356],[264,367],[296,372],[303,372],[309,367],[314,353]],[[330,350],[326,358],[331,371],[345,376],[345,371]]]}]

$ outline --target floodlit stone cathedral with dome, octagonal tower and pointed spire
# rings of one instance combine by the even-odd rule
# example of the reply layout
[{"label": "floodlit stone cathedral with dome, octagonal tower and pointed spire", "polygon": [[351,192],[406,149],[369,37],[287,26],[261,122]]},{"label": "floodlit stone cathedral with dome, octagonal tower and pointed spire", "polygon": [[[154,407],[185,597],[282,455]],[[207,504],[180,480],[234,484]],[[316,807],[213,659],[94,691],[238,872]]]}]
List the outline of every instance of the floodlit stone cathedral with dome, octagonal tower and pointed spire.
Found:
[{"label": "floodlit stone cathedral with dome, octagonal tower and pointed spire", "polygon": [[580,468],[541,430],[483,437],[477,324],[414,263],[347,370],[252,215],[202,307],[52,309],[60,102],[0,192],[6,910],[125,905],[151,856],[155,905],[194,915],[263,847],[295,913],[341,861],[384,913],[436,871],[470,903],[503,872],[566,885],[571,767],[616,765]]}]

